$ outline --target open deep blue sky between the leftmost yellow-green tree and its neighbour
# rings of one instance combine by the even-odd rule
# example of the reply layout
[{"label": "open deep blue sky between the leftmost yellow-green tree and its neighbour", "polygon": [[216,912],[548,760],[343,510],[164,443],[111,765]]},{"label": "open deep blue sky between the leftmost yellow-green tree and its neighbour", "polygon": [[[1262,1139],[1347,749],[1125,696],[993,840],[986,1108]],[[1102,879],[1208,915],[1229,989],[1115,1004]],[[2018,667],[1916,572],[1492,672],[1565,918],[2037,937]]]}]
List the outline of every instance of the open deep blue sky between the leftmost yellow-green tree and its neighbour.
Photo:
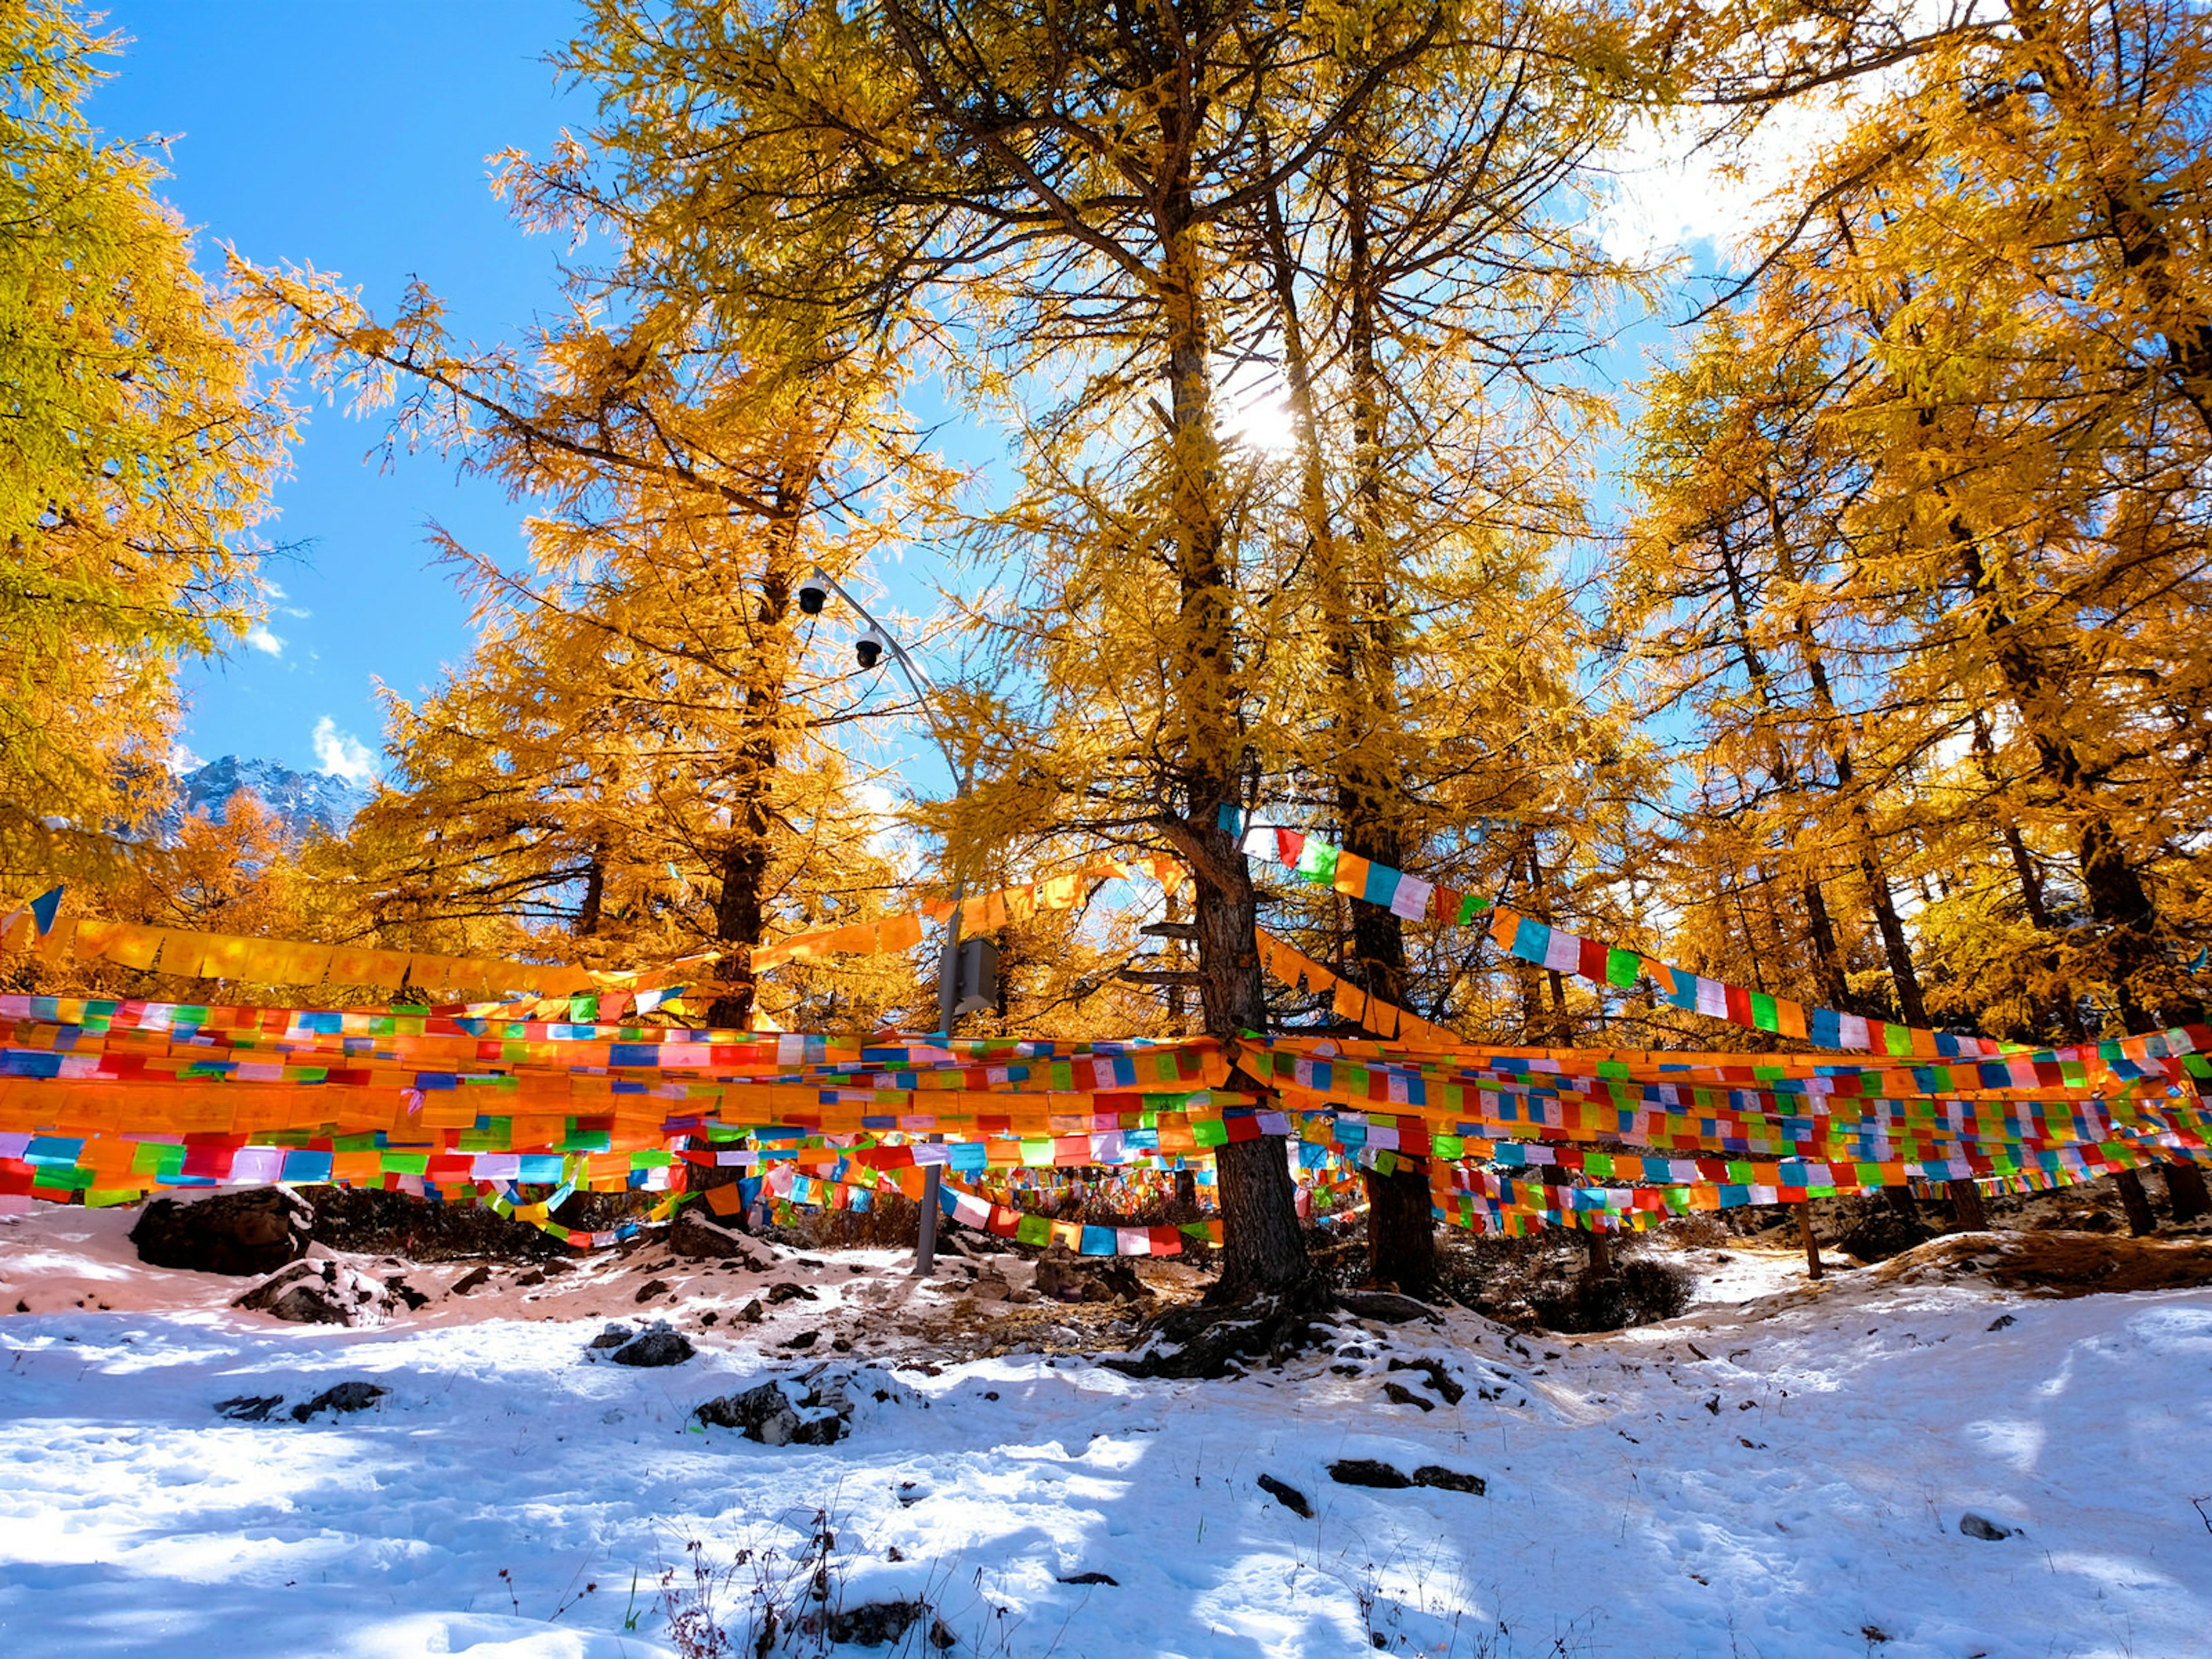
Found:
[{"label": "open deep blue sky between the leftmost yellow-green tree and its neighbour", "polygon": [[[164,190],[199,228],[204,268],[230,241],[259,263],[336,270],[378,307],[420,274],[458,332],[502,338],[553,303],[555,246],[507,221],[484,157],[542,150],[564,117],[588,117],[542,62],[571,18],[566,0],[113,0],[108,29],[133,44],[91,117],[111,137],[173,139]],[[507,555],[520,509],[436,456],[380,471],[363,460],[376,436],[312,409],[265,526],[301,544],[268,566],[283,597],[265,637],[186,672],[197,754],[327,768],[345,739],[378,745],[376,679],[411,695],[467,655],[422,526]]]}]

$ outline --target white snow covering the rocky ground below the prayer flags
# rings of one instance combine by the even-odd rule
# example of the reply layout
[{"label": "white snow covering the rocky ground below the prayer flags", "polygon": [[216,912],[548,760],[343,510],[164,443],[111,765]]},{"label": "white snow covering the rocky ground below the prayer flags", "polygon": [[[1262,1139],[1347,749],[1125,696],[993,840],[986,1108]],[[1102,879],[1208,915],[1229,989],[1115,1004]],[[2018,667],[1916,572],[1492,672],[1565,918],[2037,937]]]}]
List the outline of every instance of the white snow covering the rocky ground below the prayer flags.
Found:
[{"label": "white snow covering the rocky ground below the prayer flags", "polygon": [[[246,1281],[139,1267],[124,1228],[0,1223],[0,1310],[33,1307],[0,1318],[0,1652],[644,1659],[675,1650],[657,1584],[690,1582],[695,1540],[714,1564],[752,1551],[726,1593],[741,1615],[768,1548],[770,1575],[805,1577],[816,1511],[834,1601],[922,1597],[953,1655],[2212,1652],[2203,1290],[1809,1287],[1728,1252],[1708,1287],[1741,1267],[1759,1301],[1672,1325],[1540,1340],[1453,1314],[1347,1327],[1283,1371],[1135,1383],[1053,1354],[894,1371],[929,1340],[900,1325],[927,1332],[916,1310],[947,1292],[887,1252],[785,1252],[657,1296],[701,1352],[622,1369],[584,1354],[639,1312],[639,1263],[531,1287],[502,1270],[469,1296],[445,1290],[465,1263],[407,1267],[431,1303],[343,1332],[232,1312]],[[721,1310],[772,1281],[816,1301],[732,1329]],[[781,1352],[801,1327],[856,1352]],[[841,1444],[688,1420],[869,1354]],[[1464,1398],[1391,1358],[1440,1360]],[[389,1394],[305,1425],[212,1409],[347,1378]],[[1486,1493],[1343,1486],[1340,1458]],[[1964,1511],[2020,1531],[1964,1537]],[[1115,1584],[1066,1582],[1086,1573]],[[933,1652],[925,1628],[898,1650]]]}]

